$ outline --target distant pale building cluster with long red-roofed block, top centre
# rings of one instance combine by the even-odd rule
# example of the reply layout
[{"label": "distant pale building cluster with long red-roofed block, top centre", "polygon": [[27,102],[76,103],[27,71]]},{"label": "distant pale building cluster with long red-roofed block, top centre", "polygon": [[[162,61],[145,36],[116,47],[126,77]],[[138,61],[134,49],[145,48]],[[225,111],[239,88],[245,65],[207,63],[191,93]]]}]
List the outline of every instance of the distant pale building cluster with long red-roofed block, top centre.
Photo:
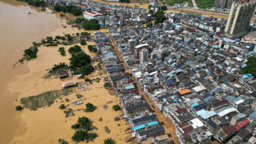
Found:
[{"label": "distant pale building cluster with long red-roofed block, top centre", "polygon": [[152,15],[146,9],[137,7],[125,7],[123,5],[112,5],[110,3],[98,3],[95,1],[84,1],[83,16],[87,19],[96,19],[99,24],[106,26],[141,26],[152,20]]}]

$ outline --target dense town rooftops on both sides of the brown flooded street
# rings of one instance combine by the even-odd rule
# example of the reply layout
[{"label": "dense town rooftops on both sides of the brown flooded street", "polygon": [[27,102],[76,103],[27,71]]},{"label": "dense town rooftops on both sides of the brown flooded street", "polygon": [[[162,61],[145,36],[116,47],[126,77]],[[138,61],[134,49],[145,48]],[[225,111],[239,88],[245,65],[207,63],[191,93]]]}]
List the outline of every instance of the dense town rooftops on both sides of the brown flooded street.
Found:
[{"label": "dense town rooftops on both sides of the brown flooded street", "polygon": [[171,13],[167,17],[152,28],[110,28],[110,39],[131,73],[109,39],[103,46],[97,43],[137,139],[156,142],[164,128],[133,79],[174,124],[179,143],[255,143],[256,81],[241,71],[247,58],[256,55],[255,44],[224,37],[223,19]]}]

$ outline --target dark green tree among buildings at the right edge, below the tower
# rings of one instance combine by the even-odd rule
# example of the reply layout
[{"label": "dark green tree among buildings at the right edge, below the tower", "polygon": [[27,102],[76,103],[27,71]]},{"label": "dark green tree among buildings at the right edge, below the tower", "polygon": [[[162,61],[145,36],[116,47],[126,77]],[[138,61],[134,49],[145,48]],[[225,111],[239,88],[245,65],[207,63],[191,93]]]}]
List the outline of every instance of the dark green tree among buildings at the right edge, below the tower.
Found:
[{"label": "dark green tree among buildings at the right edge, below the tower", "polygon": [[247,58],[246,67],[242,68],[242,73],[251,74],[256,77],[256,57]]}]

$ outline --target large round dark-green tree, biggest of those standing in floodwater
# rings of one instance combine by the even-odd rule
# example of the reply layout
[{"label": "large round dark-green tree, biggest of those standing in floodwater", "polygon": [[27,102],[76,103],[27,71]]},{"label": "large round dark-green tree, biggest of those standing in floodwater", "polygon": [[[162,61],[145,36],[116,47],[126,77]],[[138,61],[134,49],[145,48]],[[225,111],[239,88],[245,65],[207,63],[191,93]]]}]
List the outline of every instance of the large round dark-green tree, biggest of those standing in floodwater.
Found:
[{"label": "large round dark-green tree, biggest of those standing in floodwater", "polygon": [[72,57],[69,59],[72,67],[82,67],[83,65],[91,63],[91,57],[85,52],[72,53]]}]

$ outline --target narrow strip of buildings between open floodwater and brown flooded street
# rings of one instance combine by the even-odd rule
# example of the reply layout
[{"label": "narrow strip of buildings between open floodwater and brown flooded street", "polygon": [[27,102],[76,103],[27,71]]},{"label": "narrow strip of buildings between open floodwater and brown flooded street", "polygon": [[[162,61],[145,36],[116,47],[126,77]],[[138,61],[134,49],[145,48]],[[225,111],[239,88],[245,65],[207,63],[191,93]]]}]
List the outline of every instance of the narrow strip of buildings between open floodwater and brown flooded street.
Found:
[{"label": "narrow strip of buildings between open floodwater and brown flooded street", "polygon": [[[115,41],[115,35],[112,35],[112,39]],[[102,52],[102,65],[119,98],[124,116],[129,120],[129,126],[134,131],[133,137],[129,137],[130,140],[136,138],[142,143],[148,143],[147,141],[168,143],[169,136],[164,134],[164,128],[158,122],[157,116],[152,113],[148,103],[140,96],[132,75],[125,71],[124,65],[114,52],[110,39],[105,33],[98,31],[95,32],[95,41],[97,49]]]}]

